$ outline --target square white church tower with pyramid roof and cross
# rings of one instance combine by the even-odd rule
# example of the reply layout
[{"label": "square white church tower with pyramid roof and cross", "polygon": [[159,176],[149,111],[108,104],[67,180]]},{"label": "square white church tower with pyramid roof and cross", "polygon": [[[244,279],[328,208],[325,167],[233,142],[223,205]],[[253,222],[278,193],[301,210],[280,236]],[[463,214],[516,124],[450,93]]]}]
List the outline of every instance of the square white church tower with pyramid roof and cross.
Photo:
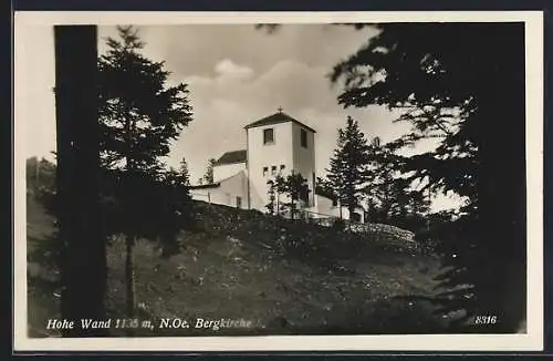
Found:
[{"label": "square white church tower with pyramid roof and cross", "polygon": [[315,131],[279,109],[278,113],[248,124],[247,173],[249,208],[264,209],[268,180],[278,174],[301,174],[310,188],[307,204],[315,199]]}]

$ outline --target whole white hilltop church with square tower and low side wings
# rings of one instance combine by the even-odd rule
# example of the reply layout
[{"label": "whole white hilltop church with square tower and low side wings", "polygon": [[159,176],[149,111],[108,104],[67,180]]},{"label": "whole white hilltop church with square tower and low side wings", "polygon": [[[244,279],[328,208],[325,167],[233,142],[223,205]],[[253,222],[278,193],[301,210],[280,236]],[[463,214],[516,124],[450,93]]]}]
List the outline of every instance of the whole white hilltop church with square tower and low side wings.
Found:
[{"label": "whole white hilltop church with square tower and low side wings", "polygon": [[[278,174],[300,174],[310,189],[300,202],[302,213],[313,218],[340,217],[364,221],[364,210],[349,217],[347,208],[317,194],[315,135],[312,127],[285,114],[278,113],[244,126],[246,149],[222,154],[213,164],[213,183],[192,186],[197,200],[267,212],[268,180]],[[341,209],[342,208],[342,209]]]}]

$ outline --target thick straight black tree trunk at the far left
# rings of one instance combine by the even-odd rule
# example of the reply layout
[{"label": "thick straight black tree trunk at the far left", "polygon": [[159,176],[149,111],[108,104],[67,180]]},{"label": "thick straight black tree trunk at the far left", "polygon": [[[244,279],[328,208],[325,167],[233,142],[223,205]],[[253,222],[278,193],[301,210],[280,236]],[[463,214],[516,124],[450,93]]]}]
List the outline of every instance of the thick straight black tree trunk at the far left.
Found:
[{"label": "thick straight black tree trunk at the far left", "polygon": [[62,319],[75,328],[64,337],[97,337],[82,319],[106,318],[106,241],[100,227],[96,27],[56,25],[56,196],[62,243]]}]

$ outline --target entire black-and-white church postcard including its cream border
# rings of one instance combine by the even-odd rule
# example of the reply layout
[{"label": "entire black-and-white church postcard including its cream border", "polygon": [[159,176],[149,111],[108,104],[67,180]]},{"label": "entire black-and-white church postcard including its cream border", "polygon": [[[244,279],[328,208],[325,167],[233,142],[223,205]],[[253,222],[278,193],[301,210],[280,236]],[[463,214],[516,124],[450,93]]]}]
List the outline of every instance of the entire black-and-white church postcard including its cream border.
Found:
[{"label": "entire black-and-white church postcard including its cream border", "polygon": [[15,344],[542,348],[541,13],[55,16],[14,21]]}]

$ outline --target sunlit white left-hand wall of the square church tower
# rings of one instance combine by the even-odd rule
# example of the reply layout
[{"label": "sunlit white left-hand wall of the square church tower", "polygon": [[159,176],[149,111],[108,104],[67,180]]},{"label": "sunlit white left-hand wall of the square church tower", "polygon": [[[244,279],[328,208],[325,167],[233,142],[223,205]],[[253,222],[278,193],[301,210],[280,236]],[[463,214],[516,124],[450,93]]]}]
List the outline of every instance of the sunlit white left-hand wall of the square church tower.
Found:
[{"label": "sunlit white left-hand wall of the square church tower", "polygon": [[[263,144],[263,131],[273,128],[274,142]],[[292,123],[279,123],[265,126],[250,127],[247,130],[248,140],[248,176],[250,177],[251,207],[263,209],[269,203],[267,182],[284,165],[283,173],[293,166],[292,157]],[[263,168],[267,173],[263,174]]]}]

